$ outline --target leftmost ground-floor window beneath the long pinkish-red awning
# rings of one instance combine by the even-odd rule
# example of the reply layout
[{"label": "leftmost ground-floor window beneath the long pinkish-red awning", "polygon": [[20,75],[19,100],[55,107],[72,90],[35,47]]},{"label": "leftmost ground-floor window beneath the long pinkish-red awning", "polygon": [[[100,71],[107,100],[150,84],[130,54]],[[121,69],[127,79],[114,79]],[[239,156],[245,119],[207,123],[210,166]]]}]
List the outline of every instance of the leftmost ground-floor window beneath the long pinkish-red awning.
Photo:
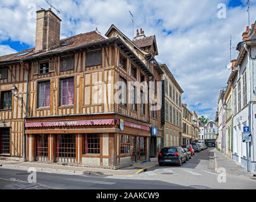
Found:
[{"label": "leftmost ground-floor window beneath the long pinkish-red awning", "polygon": [[38,134],[36,140],[36,156],[39,161],[47,161],[48,157],[48,136],[47,134]]}]

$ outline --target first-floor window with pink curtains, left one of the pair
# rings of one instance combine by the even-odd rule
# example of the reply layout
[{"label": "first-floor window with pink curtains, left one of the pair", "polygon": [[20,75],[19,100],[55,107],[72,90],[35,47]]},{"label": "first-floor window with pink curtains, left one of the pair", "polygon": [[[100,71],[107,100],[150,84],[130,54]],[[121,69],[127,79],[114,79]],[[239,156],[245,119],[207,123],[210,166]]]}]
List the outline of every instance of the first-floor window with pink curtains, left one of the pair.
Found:
[{"label": "first-floor window with pink curtains, left one of the pair", "polygon": [[50,81],[39,82],[37,85],[37,106],[50,107]]}]

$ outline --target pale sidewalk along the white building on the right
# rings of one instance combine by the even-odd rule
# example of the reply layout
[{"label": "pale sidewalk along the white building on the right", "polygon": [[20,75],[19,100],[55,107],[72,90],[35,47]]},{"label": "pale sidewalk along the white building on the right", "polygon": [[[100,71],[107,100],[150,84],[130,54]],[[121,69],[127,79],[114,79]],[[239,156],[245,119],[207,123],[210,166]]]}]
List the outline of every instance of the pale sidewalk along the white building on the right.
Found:
[{"label": "pale sidewalk along the white building on the right", "polygon": [[214,159],[215,159],[215,169],[223,167],[226,169],[227,174],[231,175],[243,175],[243,176],[253,176],[252,172],[247,172],[247,169],[239,165],[235,160],[229,158],[228,156],[214,149]]}]

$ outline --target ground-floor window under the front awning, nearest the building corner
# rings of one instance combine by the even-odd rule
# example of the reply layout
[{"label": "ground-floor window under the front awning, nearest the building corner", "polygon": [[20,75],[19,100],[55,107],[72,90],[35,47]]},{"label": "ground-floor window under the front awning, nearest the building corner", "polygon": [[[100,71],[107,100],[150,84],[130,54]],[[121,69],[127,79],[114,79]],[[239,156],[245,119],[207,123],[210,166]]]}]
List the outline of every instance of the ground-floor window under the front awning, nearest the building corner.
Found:
[{"label": "ground-floor window under the front awning, nearest the building corner", "polygon": [[99,134],[85,134],[84,153],[101,153],[101,139]]}]

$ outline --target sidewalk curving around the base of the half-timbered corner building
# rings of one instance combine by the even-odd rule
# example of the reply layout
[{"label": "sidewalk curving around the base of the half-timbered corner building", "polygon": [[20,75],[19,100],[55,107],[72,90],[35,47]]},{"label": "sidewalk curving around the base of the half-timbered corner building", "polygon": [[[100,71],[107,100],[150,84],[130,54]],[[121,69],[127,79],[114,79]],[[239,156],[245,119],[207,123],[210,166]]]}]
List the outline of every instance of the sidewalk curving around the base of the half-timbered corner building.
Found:
[{"label": "sidewalk curving around the base of the half-timbered corner building", "polygon": [[151,158],[150,162],[135,162],[130,167],[124,167],[118,170],[101,169],[93,167],[78,167],[71,165],[59,165],[54,163],[43,162],[17,162],[10,160],[0,160],[0,167],[3,169],[28,170],[35,168],[37,172],[49,172],[58,174],[75,174],[75,175],[100,175],[100,176],[118,176],[118,175],[135,175],[143,172],[149,167],[158,165],[156,158]]}]

